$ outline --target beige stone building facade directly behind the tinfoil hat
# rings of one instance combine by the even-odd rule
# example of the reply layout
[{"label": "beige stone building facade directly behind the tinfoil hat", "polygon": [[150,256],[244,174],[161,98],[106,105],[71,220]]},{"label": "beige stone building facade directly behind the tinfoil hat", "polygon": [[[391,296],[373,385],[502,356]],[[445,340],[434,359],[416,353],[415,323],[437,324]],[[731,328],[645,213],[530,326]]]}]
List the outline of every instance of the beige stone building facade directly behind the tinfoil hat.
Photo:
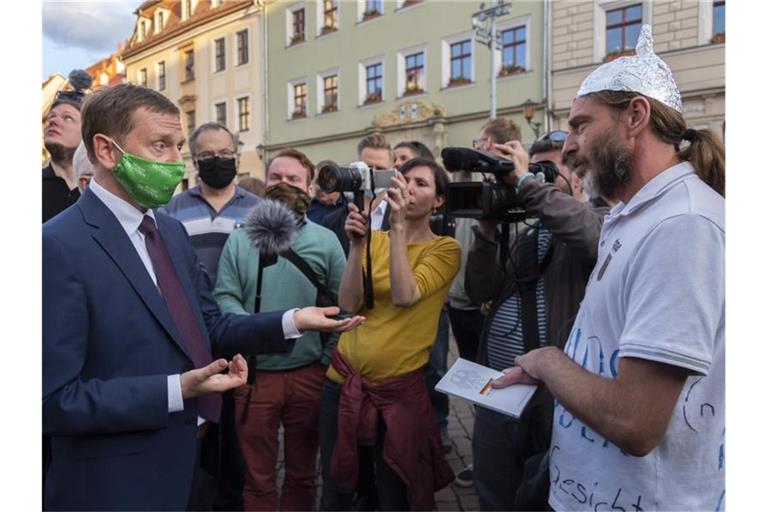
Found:
[{"label": "beige stone building facade directly behind the tinfoil hat", "polygon": [[650,23],[654,50],[669,65],[689,126],[725,136],[725,2],[712,0],[556,0],[551,4],[555,126],[568,129],[579,85],[597,66],[634,54]]}]

